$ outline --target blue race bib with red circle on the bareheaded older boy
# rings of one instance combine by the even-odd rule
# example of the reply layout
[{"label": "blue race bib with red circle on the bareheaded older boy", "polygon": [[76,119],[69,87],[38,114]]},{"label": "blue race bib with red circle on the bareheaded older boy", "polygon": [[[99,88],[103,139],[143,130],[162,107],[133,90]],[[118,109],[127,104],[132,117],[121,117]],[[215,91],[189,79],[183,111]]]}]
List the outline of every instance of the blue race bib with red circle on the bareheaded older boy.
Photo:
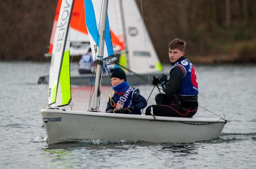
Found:
[{"label": "blue race bib with red circle on the bareheaded older boy", "polygon": [[[180,60],[173,67],[179,66],[184,72],[179,90],[175,95],[198,95],[198,83],[196,78],[196,70],[188,59]],[[183,68],[182,68],[183,67]]]}]

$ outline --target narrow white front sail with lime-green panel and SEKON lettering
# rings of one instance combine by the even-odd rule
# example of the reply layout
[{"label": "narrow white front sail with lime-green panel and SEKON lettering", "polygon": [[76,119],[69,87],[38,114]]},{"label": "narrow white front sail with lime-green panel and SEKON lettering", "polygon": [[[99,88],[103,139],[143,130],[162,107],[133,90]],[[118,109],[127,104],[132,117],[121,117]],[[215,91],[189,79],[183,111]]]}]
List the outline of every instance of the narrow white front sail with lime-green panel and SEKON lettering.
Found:
[{"label": "narrow white front sail with lime-green panel and SEKON lettering", "polygon": [[69,65],[69,23],[74,0],[61,2],[60,14],[52,46],[49,74],[49,106],[68,105],[71,100]]}]

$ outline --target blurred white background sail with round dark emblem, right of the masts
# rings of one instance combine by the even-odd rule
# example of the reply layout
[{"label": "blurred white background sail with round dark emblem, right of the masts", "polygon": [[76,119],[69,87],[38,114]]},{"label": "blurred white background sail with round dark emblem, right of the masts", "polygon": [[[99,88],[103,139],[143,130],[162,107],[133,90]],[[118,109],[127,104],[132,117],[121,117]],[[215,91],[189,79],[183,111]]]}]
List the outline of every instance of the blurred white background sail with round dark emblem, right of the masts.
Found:
[{"label": "blurred white background sail with round dark emblem, right of the masts", "polygon": [[[148,72],[162,71],[162,66],[153,43],[148,34],[140,15],[140,11],[135,0],[122,1],[122,9],[124,16],[125,40],[128,52],[129,69],[140,74]],[[145,32],[145,38],[144,38]],[[146,42],[146,46],[145,46]],[[148,68],[146,62],[148,57]],[[141,64],[145,63],[145,64]]]}]

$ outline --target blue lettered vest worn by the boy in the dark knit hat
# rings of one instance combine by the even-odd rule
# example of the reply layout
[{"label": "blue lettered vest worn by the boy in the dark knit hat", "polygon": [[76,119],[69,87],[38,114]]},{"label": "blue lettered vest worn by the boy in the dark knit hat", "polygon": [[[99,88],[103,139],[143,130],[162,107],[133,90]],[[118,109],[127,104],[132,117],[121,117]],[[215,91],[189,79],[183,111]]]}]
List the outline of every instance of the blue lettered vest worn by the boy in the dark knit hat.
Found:
[{"label": "blue lettered vest worn by the boy in the dark knit hat", "polygon": [[[114,93],[115,109],[125,109],[136,105],[136,102],[132,99],[133,93],[137,88],[129,87],[123,95],[120,93]],[[140,114],[140,110],[134,110],[131,114]]]}]

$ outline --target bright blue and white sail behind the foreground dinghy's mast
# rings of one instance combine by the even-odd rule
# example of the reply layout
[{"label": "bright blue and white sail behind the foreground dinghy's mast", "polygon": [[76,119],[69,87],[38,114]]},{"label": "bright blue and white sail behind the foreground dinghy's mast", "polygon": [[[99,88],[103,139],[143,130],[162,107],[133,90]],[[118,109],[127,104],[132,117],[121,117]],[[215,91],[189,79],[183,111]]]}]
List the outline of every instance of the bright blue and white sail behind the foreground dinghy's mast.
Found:
[{"label": "bright blue and white sail behind the foreground dinghy's mast", "polygon": [[[101,1],[97,0],[84,0],[85,3],[85,20],[86,20],[86,27],[88,31],[88,36],[90,39],[90,45],[92,48],[92,55],[93,60],[98,59],[98,51],[99,51],[99,43],[100,43],[100,12],[101,12]],[[104,26],[104,25],[103,25]],[[112,56],[114,54],[113,47],[112,47],[112,41],[111,41],[111,35],[110,35],[110,28],[109,28],[109,22],[108,22],[108,15],[106,18],[106,28],[105,28],[105,39],[104,39],[104,53],[103,57],[107,58],[109,56]]]}]

